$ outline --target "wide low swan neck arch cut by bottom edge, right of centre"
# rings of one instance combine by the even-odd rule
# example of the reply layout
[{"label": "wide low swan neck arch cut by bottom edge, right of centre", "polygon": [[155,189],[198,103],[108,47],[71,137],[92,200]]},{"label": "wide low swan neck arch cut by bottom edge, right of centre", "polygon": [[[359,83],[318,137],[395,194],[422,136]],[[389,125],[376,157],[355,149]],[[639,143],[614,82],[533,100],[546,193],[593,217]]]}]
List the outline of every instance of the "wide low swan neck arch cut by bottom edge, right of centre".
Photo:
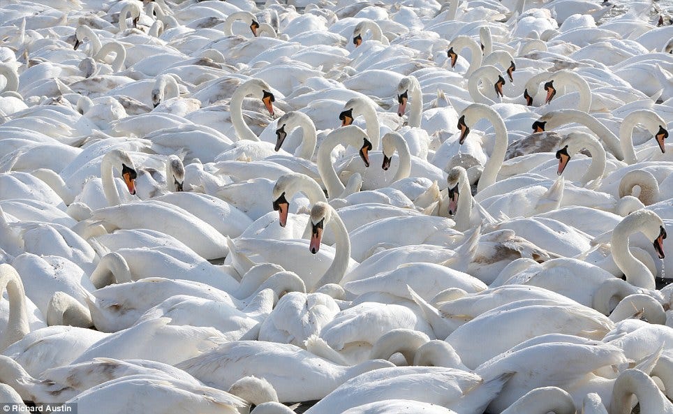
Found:
[{"label": "wide low swan neck arch cut by bottom edge, right of centre", "polygon": [[568,392],[557,387],[540,387],[528,392],[501,414],[575,414],[575,403]]}]

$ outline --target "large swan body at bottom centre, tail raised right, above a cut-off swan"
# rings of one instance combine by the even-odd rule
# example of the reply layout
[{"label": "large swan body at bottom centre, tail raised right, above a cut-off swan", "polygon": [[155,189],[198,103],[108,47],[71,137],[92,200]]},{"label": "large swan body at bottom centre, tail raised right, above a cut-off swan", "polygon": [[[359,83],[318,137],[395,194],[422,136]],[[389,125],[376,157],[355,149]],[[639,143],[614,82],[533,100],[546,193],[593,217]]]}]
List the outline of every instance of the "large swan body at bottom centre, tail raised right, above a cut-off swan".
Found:
[{"label": "large swan body at bottom centre, tail raised right, above a cut-off swan", "polygon": [[400,398],[437,404],[457,413],[483,413],[510,376],[482,378],[443,367],[376,369],[343,383],[306,413],[343,413],[375,401]]}]

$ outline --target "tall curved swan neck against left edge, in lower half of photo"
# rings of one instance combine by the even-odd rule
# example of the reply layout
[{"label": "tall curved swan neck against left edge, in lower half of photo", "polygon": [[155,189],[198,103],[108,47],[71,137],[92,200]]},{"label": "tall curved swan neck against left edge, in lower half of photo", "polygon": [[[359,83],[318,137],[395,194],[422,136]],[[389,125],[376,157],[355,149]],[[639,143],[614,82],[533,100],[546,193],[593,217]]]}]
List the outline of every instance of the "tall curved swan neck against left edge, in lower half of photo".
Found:
[{"label": "tall curved swan neck against left edge, in lower half of photo", "polygon": [[30,332],[26,292],[19,274],[14,267],[8,264],[0,265],[0,300],[5,288],[9,300],[9,318],[6,330],[0,340],[0,351],[19,341]]}]

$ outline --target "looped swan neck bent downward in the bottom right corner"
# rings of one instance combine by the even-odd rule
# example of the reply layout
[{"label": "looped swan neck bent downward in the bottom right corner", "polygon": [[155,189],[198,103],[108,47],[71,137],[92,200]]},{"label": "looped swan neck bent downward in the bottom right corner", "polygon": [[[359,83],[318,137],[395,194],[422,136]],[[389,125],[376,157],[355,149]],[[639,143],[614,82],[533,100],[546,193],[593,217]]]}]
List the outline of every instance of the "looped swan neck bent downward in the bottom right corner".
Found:
[{"label": "looped swan neck bent downward in the bottom right corner", "polygon": [[630,414],[633,395],[638,399],[641,413],[672,412],[672,404],[665,399],[652,378],[639,369],[627,369],[614,381],[611,413]]}]

